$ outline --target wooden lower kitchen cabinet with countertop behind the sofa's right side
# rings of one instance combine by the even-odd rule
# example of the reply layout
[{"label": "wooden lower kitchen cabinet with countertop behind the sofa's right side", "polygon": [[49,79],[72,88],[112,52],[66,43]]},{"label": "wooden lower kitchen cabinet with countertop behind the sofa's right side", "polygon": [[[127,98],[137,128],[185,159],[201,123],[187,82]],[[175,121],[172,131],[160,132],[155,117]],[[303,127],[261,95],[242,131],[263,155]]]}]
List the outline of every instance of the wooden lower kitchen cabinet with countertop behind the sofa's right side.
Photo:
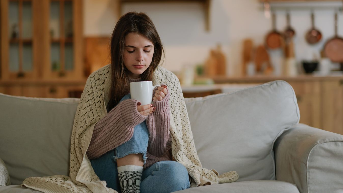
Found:
[{"label": "wooden lower kitchen cabinet with countertop behind the sofa's right side", "polygon": [[215,83],[262,84],[284,80],[294,89],[300,123],[343,135],[343,76],[212,77]]}]

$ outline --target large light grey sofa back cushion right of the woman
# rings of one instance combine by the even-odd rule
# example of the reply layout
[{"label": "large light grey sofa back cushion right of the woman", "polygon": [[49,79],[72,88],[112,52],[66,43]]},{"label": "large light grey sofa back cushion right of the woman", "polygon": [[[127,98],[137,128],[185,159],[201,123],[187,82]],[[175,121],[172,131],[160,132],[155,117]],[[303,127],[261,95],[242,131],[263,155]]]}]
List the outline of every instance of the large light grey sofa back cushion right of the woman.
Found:
[{"label": "large light grey sofa back cushion right of the woman", "polygon": [[275,180],[274,141],[300,119],[291,85],[274,81],[185,102],[204,168],[237,171],[238,181]]}]

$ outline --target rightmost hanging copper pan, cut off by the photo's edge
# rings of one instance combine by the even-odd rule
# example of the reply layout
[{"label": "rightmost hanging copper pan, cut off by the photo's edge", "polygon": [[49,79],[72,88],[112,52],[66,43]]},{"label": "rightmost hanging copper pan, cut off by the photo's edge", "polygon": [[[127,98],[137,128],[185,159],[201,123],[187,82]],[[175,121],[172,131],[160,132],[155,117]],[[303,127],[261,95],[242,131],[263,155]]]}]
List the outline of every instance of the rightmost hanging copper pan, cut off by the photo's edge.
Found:
[{"label": "rightmost hanging copper pan, cut off by the photo's edge", "polygon": [[327,41],[324,52],[332,62],[343,62],[343,38],[337,34],[337,13],[335,13],[335,36]]}]

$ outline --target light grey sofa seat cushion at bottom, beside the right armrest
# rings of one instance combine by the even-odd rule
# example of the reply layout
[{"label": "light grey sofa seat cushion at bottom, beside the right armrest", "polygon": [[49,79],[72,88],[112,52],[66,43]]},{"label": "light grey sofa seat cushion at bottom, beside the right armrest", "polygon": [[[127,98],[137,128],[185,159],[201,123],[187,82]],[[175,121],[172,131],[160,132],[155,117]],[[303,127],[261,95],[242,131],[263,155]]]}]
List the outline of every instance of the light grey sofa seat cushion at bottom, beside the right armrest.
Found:
[{"label": "light grey sofa seat cushion at bottom, beside the right armrest", "polygon": [[[1,189],[0,189],[1,190]],[[177,191],[177,193],[299,193],[295,184],[277,180],[253,180],[213,184]],[[175,192],[176,193],[176,192]]]}]

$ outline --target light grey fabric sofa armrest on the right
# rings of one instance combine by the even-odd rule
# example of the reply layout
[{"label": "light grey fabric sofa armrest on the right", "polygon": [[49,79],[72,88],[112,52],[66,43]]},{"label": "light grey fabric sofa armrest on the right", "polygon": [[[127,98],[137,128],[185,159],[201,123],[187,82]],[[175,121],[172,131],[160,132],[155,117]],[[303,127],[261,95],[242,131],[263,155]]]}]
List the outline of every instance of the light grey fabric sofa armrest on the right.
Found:
[{"label": "light grey fabric sofa armrest on the right", "polygon": [[343,135],[297,124],[275,142],[276,180],[301,193],[343,191]]}]

